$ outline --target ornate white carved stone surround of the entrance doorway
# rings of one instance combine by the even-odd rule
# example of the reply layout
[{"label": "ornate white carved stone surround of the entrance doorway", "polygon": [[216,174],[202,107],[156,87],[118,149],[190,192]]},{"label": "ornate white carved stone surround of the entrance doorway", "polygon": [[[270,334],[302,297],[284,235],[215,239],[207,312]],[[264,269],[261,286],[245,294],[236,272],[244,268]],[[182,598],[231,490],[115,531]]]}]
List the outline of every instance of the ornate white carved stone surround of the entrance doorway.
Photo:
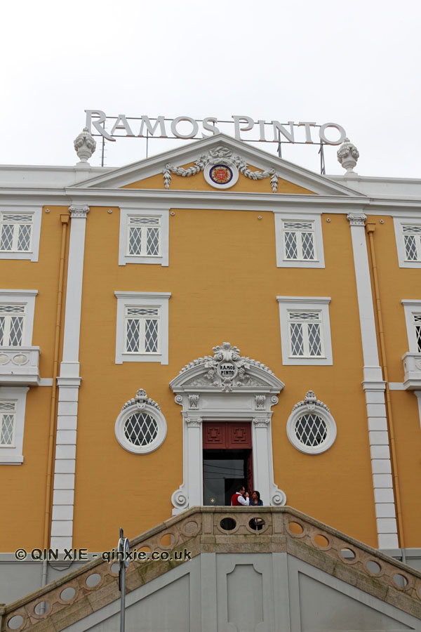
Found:
[{"label": "ornate white carved stone surround of the entrance doorway", "polygon": [[213,355],[186,364],[170,386],[183,422],[183,482],[171,496],[173,515],[203,504],[202,421],[251,422],[255,489],[265,503],[284,505],[272,456],[272,407],[285,386],[281,380],[225,342],[213,347]]}]

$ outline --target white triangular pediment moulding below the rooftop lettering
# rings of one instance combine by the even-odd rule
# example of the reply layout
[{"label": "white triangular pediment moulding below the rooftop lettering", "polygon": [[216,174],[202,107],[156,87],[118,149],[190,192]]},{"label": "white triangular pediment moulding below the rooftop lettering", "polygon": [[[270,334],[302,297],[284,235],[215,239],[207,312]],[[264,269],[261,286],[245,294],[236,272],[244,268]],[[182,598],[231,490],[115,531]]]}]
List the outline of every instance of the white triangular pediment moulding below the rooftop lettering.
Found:
[{"label": "white triangular pediment moulding below the rooftop lettering", "polygon": [[[356,192],[348,187],[330,180],[327,176],[320,176],[309,169],[288,162],[282,158],[269,154],[257,147],[241,140],[219,133],[210,138],[203,138],[183,147],[157,154],[156,156],[133,162],[126,166],[110,169],[107,173],[83,180],[74,188],[91,189],[120,189],[127,185],[144,180],[151,176],[163,173],[166,165],[171,164],[176,169],[182,165],[194,163],[203,155],[211,151],[225,149],[235,157],[239,157],[247,165],[261,171],[274,170],[276,177],[307,189],[317,195],[355,196],[361,197],[361,192]],[[216,191],[215,191],[216,192]]]}]

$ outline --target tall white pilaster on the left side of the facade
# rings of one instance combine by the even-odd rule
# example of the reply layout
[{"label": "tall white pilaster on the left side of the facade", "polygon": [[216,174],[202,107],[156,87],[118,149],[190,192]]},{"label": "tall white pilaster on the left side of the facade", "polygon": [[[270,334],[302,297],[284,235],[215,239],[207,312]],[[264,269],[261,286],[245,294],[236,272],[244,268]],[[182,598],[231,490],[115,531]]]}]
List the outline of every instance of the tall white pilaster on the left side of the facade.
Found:
[{"label": "tall white pilaster on the left side of the facade", "polygon": [[79,399],[79,338],[86,215],[89,206],[70,206],[69,262],[63,357],[58,383],[58,417],[55,447],[51,548],[72,548],[74,472],[76,468],[77,405]]}]

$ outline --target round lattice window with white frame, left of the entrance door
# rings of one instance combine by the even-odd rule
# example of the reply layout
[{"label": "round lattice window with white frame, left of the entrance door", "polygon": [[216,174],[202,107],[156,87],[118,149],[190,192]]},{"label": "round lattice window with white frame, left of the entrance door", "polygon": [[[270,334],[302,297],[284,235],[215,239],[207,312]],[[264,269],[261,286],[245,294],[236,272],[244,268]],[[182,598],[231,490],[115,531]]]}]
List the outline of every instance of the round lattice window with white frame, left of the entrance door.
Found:
[{"label": "round lattice window with white frame, left of the entrance door", "polygon": [[133,404],[119,414],[114,430],[121,447],[135,454],[147,454],[165,439],[166,421],[161,411],[149,404],[142,410]]}]

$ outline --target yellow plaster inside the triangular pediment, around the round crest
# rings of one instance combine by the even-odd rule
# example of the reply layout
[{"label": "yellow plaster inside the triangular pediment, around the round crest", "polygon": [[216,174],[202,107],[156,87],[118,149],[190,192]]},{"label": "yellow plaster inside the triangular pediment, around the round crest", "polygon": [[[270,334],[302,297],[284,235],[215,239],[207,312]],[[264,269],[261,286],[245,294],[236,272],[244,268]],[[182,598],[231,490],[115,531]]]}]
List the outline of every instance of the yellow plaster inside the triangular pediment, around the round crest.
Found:
[{"label": "yellow plaster inside the triangular pediment, around the round crest", "polygon": [[[194,162],[182,165],[184,169],[188,169],[193,166]],[[251,171],[262,171],[254,166],[248,166]],[[129,185],[122,187],[123,189],[163,189],[164,182],[162,173],[156,173],[156,176],[149,176],[143,180],[138,180]],[[182,177],[175,176],[171,173],[170,190],[182,190],[182,191],[212,191],[215,193],[215,187],[210,186],[203,176],[203,171],[197,173],[196,176]],[[229,192],[252,192],[252,193],[272,193],[272,187],[270,185],[270,178],[264,178],[263,180],[250,180],[246,178],[242,173],[239,173],[239,179],[234,186],[228,189]],[[295,193],[301,195],[314,195],[313,191],[309,191],[304,187],[300,187],[288,180],[279,178],[278,180],[278,193]]]}]

